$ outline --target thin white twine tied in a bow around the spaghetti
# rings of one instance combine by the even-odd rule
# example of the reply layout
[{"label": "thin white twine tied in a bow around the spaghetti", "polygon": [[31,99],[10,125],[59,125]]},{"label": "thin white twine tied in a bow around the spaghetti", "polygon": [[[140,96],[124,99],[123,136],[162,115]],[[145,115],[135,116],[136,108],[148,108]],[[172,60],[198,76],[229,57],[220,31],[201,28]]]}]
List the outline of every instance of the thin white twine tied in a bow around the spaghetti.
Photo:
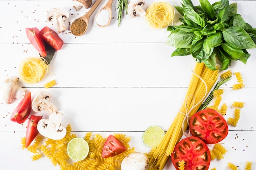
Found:
[{"label": "thin white twine tied in a bow around the spaghetti", "polygon": [[187,107],[185,107],[185,108],[186,108],[186,113],[183,113],[183,112],[179,111],[179,113],[185,115],[184,120],[183,120],[183,122],[182,122],[182,132],[183,132],[183,134],[184,134],[186,137],[188,137],[188,136],[190,135],[190,131],[188,132],[188,134],[185,133],[185,131],[184,131],[184,123],[185,123],[185,121],[187,121],[187,123],[188,123],[188,125],[189,125],[189,119],[190,119],[189,114],[190,114],[191,110],[193,110],[193,108],[194,108],[195,106],[197,106],[198,104],[200,104],[201,102],[203,102],[204,98],[207,96],[207,84],[206,84],[206,82],[204,81],[204,79],[202,79],[202,77],[200,77],[199,75],[197,75],[193,70],[192,70],[192,72],[193,72],[198,78],[200,78],[200,80],[202,80],[202,82],[204,83],[204,85],[205,85],[205,94],[204,94],[204,97],[203,97],[198,103],[196,103],[196,104],[195,104],[195,96],[194,96],[194,95],[190,95],[189,97],[186,98],[186,106],[187,106],[187,101],[188,101],[188,99],[189,99],[190,97],[193,97],[193,105],[192,105],[191,109],[188,111],[188,110],[187,110]]}]

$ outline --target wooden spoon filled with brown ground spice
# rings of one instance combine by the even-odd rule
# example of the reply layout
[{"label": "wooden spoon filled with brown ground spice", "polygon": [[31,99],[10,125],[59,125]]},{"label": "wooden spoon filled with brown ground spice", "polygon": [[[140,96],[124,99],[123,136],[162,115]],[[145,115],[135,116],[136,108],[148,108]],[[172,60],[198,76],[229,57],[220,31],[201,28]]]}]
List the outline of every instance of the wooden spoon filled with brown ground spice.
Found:
[{"label": "wooden spoon filled with brown ground spice", "polygon": [[73,35],[80,36],[85,33],[88,28],[89,18],[95,9],[99,6],[102,0],[96,0],[96,2],[92,5],[91,9],[83,16],[76,18],[71,26],[70,31]]}]

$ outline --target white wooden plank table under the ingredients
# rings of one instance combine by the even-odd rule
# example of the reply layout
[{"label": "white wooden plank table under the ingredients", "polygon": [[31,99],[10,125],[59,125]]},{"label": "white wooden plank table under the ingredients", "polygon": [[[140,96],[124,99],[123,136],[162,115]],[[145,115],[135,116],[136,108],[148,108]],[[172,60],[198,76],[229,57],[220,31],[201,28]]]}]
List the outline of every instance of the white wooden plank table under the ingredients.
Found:
[{"label": "white wooden plank table under the ingredients", "polygon": [[[166,0],[180,6],[181,0]],[[93,0],[93,3],[95,0]],[[83,137],[86,132],[107,137],[123,133],[131,137],[130,146],[138,152],[149,152],[142,134],[146,128],[158,125],[167,130],[177,114],[194,68],[189,56],[171,57],[174,47],[165,44],[169,31],[153,29],[145,18],[123,15],[121,26],[117,21],[117,0],[112,5],[113,19],[109,26],[101,28],[95,22],[95,14],[106,4],[103,0],[90,17],[86,33],[76,37],[66,30],[58,35],[65,42],[55,53],[50,68],[41,82],[26,84],[32,98],[40,91],[48,91],[51,101],[63,113],[62,124],[71,124],[72,132]],[[157,0],[147,0],[146,9]],[[216,0],[210,1],[211,3]],[[246,22],[256,27],[256,1],[232,0],[238,4],[238,13]],[[199,1],[193,0],[199,4]],[[26,27],[42,29],[48,26],[46,11],[65,8],[70,13],[68,22],[85,14],[88,9],[75,11],[71,0],[1,0],[0,1],[0,82],[9,76],[18,77],[18,67],[25,57],[38,56],[38,52],[26,37]],[[66,22],[67,27],[70,25]],[[232,90],[235,76],[223,85],[222,103],[229,107],[225,118],[232,117],[233,101],[245,102],[236,127],[229,126],[229,134],[222,141],[228,152],[224,159],[211,161],[210,168],[226,170],[227,162],[245,169],[246,161],[252,161],[256,170],[256,49],[249,50],[247,64],[233,62],[232,72],[239,71],[245,87]],[[221,72],[220,72],[221,73]],[[52,88],[43,84],[56,79]],[[22,150],[20,138],[26,135],[27,121],[17,124],[10,115],[18,104],[0,104],[0,169],[58,170],[47,157],[31,161],[32,153]],[[166,170],[174,170],[171,161]]]}]

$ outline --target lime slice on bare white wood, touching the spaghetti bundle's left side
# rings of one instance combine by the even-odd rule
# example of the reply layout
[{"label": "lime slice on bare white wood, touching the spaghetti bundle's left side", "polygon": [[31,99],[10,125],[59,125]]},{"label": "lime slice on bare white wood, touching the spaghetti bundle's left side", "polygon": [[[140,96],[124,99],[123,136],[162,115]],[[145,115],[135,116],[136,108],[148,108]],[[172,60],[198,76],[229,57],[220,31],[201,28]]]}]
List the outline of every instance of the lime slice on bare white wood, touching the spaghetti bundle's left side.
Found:
[{"label": "lime slice on bare white wood, touching the spaghetti bundle's left side", "polygon": [[150,148],[159,146],[163,138],[164,130],[159,126],[150,126],[142,135],[144,144]]}]

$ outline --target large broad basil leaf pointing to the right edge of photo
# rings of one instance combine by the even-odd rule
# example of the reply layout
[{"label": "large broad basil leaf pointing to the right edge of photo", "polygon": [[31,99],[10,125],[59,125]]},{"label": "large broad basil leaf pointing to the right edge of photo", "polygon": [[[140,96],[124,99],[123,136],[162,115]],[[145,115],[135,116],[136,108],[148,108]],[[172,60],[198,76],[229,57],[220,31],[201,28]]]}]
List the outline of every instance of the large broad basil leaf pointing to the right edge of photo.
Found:
[{"label": "large broad basil leaf pointing to the right edge of photo", "polygon": [[222,31],[223,38],[226,42],[239,49],[256,48],[250,35],[240,27],[231,26]]}]

